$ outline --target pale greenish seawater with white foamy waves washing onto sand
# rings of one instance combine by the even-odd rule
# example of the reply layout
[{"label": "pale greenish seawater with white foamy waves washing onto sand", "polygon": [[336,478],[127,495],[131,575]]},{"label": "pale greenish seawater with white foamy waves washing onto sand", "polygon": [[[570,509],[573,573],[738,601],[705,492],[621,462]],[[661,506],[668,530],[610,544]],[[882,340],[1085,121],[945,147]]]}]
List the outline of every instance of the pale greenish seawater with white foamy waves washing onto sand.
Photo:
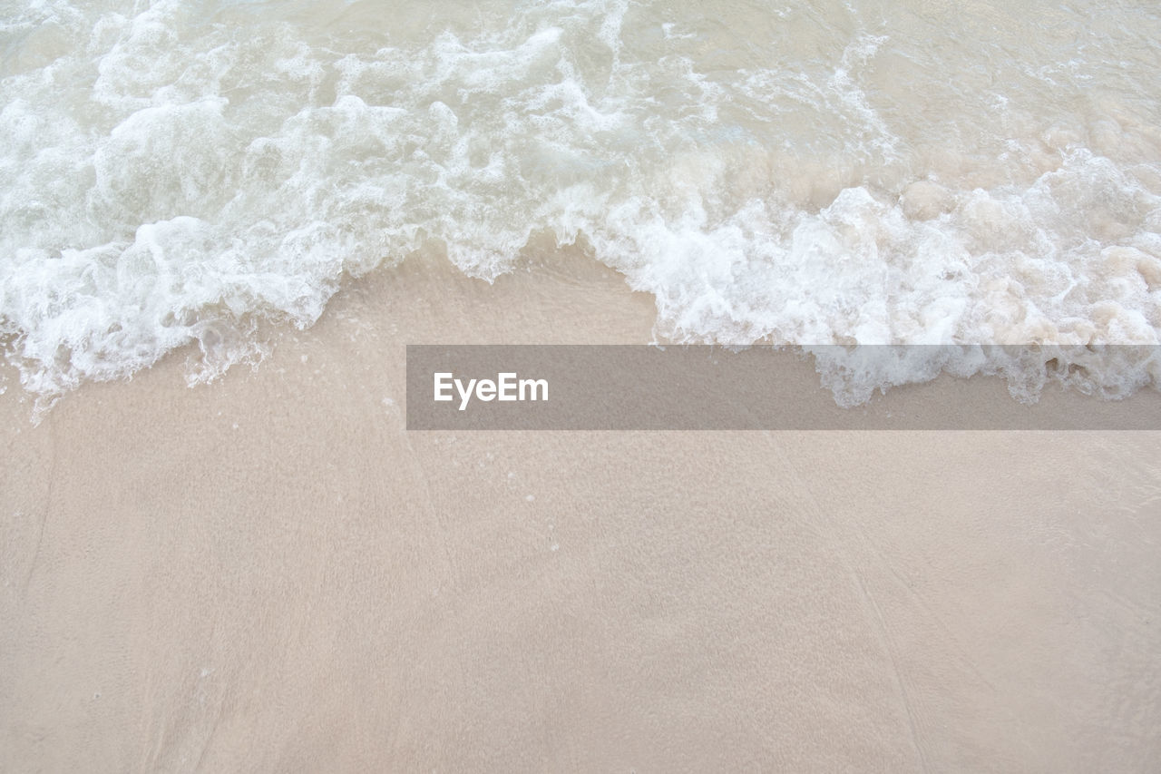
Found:
[{"label": "pale greenish seawater with white foamy waves washing onto sand", "polygon": [[1158,40],[1144,1],[6,2],[0,335],[38,394],[190,343],[197,381],[345,275],[549,234],[665,341],[1159,344]]}]

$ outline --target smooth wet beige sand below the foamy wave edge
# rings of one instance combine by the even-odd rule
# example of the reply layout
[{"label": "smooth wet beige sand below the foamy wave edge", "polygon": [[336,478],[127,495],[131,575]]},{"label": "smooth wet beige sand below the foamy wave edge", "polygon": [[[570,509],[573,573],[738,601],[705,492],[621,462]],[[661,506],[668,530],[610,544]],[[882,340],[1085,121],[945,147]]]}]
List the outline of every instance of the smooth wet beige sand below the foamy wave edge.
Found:
[{"label": "smooth wet beige sand below the foamy wave edge", "polygon": [[1158,433],[404,430],[408,343],[655,318],[578,257],[409,261],[208,386],[33,425],[9,371],[0,769],[1161,760]]}]

